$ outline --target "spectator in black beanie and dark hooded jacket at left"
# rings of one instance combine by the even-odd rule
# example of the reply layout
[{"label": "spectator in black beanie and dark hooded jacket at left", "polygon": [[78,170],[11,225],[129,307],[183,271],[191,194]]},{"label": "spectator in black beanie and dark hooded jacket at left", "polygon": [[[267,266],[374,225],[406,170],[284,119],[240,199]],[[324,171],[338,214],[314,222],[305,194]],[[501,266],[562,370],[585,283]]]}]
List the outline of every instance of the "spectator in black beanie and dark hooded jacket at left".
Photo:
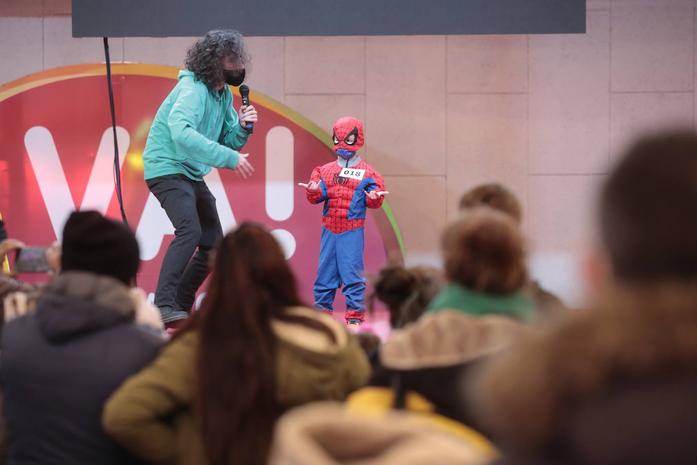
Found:
[{"label": "spectator in black beanie and dark hooded jacket at left", "polygon": [[128,284],[138,266],[128,227],[94,211],[70,215],[61,273],[42,291],[36,310],[3,328],[9,464],[138,463],[100,426],[107,397],[162,345],[135,323]]}]

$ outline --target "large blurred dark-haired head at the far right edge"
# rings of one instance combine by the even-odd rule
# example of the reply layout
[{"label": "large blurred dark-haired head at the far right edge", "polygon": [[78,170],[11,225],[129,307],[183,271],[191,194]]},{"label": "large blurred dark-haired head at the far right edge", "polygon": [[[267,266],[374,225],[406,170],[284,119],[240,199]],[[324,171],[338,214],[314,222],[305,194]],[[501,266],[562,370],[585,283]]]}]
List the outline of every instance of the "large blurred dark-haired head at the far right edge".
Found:
[{"label": "large blurred dark-haired head at the far right edge", "polygon": [[613,277],[650,282],[697,277],[697,135],[636,142],[601,193],[600,232]]}]

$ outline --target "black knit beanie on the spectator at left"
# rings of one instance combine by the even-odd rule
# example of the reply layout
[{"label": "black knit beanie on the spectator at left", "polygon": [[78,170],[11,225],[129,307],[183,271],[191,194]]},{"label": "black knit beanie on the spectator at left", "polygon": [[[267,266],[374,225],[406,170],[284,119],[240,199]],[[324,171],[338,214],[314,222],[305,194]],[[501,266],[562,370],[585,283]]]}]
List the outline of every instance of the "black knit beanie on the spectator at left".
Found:
[{"label": "black knit beanie on the spectator at left", "polygon": [[138,242],[122,222],[76,211],[63,228],[61,270],[91,271],[130,284],[140,264]]}]

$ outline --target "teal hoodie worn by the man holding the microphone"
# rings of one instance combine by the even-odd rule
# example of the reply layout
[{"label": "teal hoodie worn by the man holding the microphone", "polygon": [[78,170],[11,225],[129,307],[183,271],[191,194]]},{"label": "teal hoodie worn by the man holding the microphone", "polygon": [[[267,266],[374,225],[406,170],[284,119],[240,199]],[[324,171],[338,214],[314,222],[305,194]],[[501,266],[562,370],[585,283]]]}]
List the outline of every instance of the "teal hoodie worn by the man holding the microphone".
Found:
[{"label": "teal hoodie worn by the man holding the microphone", "polygon": [[238,150],[249,139],[232,107],[232,91],[210,89],[179,72],[179,82],[164,99],[143,151],[145,178],[185,174],[203,181],[211,167],[235,169]]}]

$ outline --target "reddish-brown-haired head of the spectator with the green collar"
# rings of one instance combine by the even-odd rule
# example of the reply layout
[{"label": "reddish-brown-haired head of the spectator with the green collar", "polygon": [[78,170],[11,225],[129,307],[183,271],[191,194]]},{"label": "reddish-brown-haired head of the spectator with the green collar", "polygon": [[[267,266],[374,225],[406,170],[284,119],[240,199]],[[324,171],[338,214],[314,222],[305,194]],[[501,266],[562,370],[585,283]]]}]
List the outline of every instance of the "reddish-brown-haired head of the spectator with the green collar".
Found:
[{"label": "reddish-brown-haired head of the spectator with the green collar", "polygon": [[511,294],[528,280],[518,223],[489,207],[463,211],[443,234],[447,280],[486,294]]}]

